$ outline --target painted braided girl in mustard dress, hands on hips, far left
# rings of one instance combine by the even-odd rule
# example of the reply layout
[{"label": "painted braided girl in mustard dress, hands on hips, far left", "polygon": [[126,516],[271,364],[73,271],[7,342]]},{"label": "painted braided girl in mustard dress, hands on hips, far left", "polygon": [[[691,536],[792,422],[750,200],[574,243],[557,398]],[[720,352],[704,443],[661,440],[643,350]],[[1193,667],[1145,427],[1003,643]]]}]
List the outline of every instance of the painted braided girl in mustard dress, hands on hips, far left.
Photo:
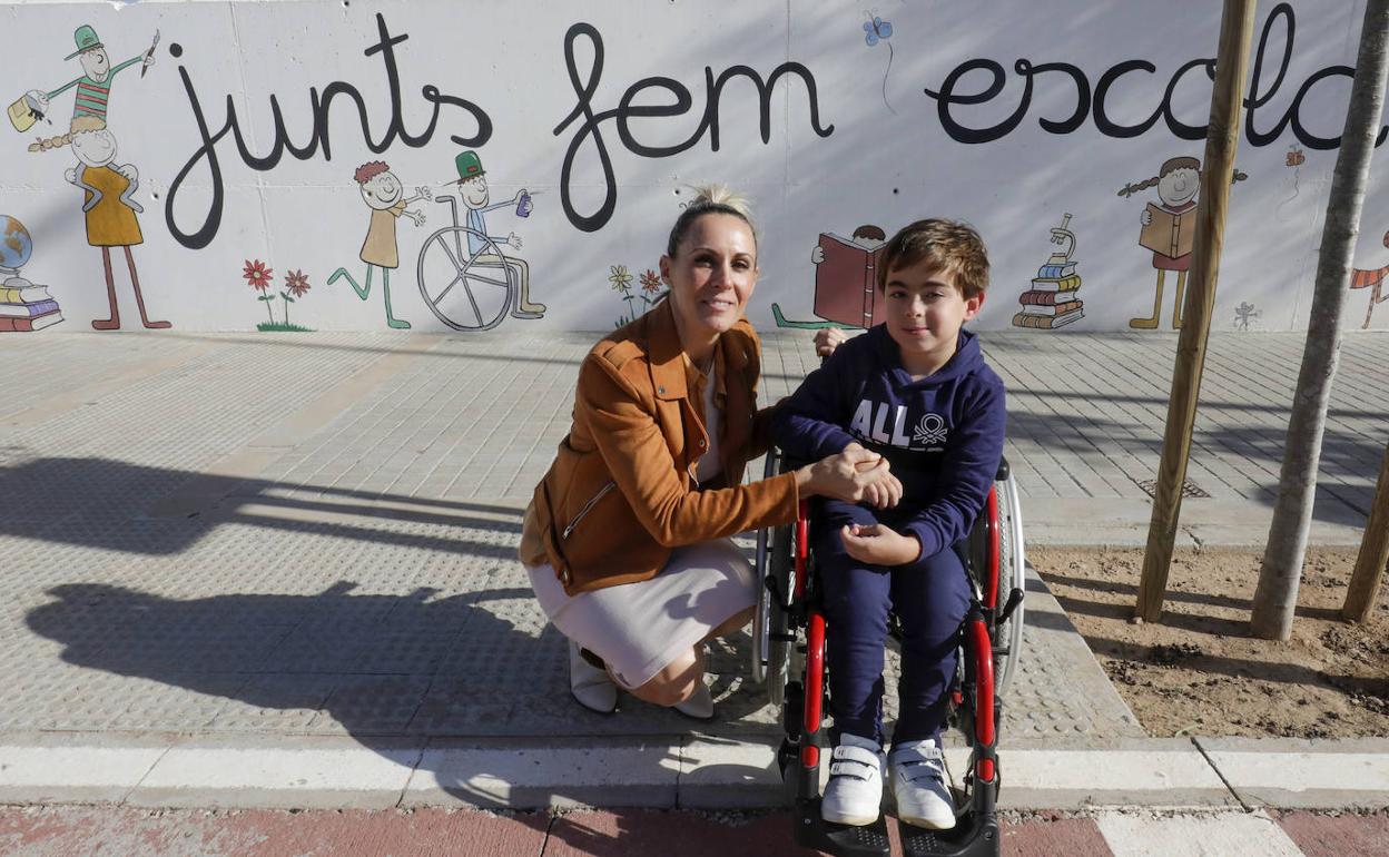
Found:
[{"label": "painted braided girl in mustard dress, hands on hips, far left", "polygon": [[72,153],[78,156],[78,165],[68,169],[64,178],[85,192],[82,211],[86,214],[88,243],[101,247],[101,265],[106,269],[106,296],[111,304],[111,317],[94,319],[92,326],[97,331],[121,328],[121,313],[115,303],[115,278],[111,275],[111,247],[125,250],[125,264],[131,269],[131,288],[135,292],[135,306],[140,308],[140,322],[153,329],[171,326],[167,321],[150,321],[146,314],[140,276],[135,271],[135,256],[131,253],[131,247],[144,243],[140,222],[135,217],[144,211],[135,201],[135,190],[140,186],[139,171],[133,164],[115,164],[115,135],[97,117],[74,117],[71,132],[60,139],[71,142]]}]

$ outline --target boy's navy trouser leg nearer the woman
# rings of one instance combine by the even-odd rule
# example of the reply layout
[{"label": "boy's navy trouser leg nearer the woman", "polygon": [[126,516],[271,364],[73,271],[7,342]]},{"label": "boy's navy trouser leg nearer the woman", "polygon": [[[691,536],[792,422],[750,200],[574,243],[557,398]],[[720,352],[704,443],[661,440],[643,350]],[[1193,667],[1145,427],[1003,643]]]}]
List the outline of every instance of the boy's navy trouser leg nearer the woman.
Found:
[{"label": "boy's navy trouser leg nearer the woman", "polygon": [[829,624],[829,707],[835,739],[849,733],[882,740],[882,663],[888,642],[892,576],[845,553],[839,529],[874,524],[867,508],[836,500],[818,504],[813,544]]}]

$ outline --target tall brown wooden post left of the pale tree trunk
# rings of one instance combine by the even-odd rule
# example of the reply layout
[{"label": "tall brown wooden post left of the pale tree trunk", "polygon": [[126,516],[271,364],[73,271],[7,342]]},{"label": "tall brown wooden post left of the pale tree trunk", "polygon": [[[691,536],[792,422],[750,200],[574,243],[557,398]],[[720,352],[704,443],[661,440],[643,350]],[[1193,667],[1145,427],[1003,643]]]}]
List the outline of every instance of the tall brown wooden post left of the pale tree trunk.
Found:
[{"label": "tall brown wooden post left of the pale tree trunk", "polygon": [[1136,614],[1145,622],[1163,618],[1167,572],[1176,543],[1176,522],[1182,510],[1182,483],[1196,425],[1196,400],[1206,364],[1206,340],[1215,307],[1215,278],[1225,244],[1225,211],[1229,207],[1231,175],[1239,147],[1240,104],[1245,69],[1254,35],[1254,0],[1225,0],[1215,54],[1215,86],[1211,90],[1211,119],[1201,163],[1201,197],[1196,210],[1192,271],[1186,288],[1186,311],[1176,340],[1172,392],[1167,401],[1167,429],[1163,460],[1157,469],[1153,519],[1143,553],[1143,578],[1138,589]]}]

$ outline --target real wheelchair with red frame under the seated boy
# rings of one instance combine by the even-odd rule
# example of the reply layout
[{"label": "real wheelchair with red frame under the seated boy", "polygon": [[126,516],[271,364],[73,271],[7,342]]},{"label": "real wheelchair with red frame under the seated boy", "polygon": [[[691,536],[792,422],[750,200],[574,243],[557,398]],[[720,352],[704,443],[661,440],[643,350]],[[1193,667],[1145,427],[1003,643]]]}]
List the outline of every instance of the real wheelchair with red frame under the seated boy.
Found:
[{"label": "real wheelchair with red frame under the seated boy", "polygon": [[[767,454],[765,475],[790,468],[778,450]],[[801,501],[793,525],[757,533],[758,603],[753,619],[753,679],[763,682],[779,710],[783,729],[776,761],[782,782],[795,800],[797,844],[833,856],[883,856],[888,828],[883,817],[867,826],[826,822],[820,817],[820,758],[832,750],[825,713],[825,617],[808,551],[808,506]],[[979,519],[956,546],[971,579],[971,603],[960,628],[960,657],[950,689],[947,728],[964,735],[970,767],[963,788],[951,788],[956,826],[929,831],[901,824],[908,857],[996,857],[1000,831],[995,801],[1000,783],[997,726],[1000,700],[1022,653],[1022,593],[1025,557],[1018,488],[1007,461],[999,464]],[[889,633],[895,617],[889,619]]]}]

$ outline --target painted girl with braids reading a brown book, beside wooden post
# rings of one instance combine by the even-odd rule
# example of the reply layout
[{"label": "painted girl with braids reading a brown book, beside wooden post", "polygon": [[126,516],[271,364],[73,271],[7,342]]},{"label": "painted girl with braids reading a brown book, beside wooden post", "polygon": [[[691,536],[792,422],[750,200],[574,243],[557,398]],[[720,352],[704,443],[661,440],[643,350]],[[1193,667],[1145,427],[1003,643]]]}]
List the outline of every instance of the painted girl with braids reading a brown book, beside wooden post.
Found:
[{"label": "painted girl with braids reading a brown book, beside wooden post", "polygon": [[1201,163],[1193,157],[1168,158],[1153,178],[1128,185],[1120,192],[1128,196],[1157,185],[1160,204],[1149,203],[1139,214],[1143,231],[1138,243],[1153,251],[1157,268],[1157,294],[1153,297],[1150,318],[1131,318],[1129,326],[1140,331],[1157,328],[1163,314],[1163,283],[1168,271],[1176,272],[1176,300],[1172,306],[1172,328],[1182,326],[1182,299],[1186,292],[1186,271],[1192,265],[1192,238],[1196,233],[1196,194],[1201,189]]}]

